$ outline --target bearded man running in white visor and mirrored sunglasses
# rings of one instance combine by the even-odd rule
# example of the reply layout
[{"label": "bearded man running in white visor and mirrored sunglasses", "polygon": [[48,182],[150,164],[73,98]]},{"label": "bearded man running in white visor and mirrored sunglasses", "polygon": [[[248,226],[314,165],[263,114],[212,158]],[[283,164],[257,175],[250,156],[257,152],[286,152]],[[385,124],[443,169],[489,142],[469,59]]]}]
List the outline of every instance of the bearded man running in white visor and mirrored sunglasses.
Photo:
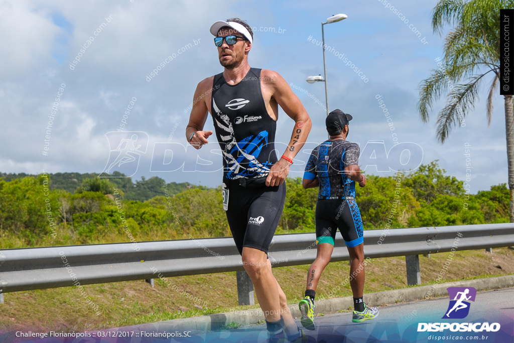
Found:
[{"label": "bearded man running in white visor and mirrored sunglasses", "polygon": [[[207,144],[208,112],[223,152],[223,199],[227,220],[243,266],[266,317],[270,341],[303,341],[282,288],[271,272],[268,249],[284,208],[284,180],[310,131],[298,97],[275,71],[251,68],[253,32],[240,19],[211,26],[221,74],[200,83],[194,94],[186,137],[196,149]],[[274,152],[278,106],[295,121],[281,158]]]}]

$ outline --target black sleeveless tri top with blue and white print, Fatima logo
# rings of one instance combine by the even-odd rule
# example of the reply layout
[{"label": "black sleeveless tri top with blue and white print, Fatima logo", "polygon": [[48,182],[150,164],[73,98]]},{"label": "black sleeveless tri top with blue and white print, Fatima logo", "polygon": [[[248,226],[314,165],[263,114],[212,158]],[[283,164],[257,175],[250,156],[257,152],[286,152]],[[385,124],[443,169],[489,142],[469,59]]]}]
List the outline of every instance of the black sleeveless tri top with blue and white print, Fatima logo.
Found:
[{"label": "black sleeveless tri top with blue and white print, Fatima logo", "polygon": [[212,89],[212,120],[223,152],[223,179],[266,176],[277,163],[277,122],[266,110],[261,69],[250,68],[235,85],[228,84],[223,73],[217,74]]}]

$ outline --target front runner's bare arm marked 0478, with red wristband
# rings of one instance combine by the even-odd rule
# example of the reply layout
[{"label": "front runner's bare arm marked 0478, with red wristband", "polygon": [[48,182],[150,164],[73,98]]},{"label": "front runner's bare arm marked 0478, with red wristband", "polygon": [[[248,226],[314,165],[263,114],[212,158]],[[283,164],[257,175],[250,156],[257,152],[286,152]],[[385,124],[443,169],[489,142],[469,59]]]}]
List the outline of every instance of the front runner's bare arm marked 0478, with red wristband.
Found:
[{"label": "front runner's bare arm marked 0478, with red wristband", "polygon": [[293,160],[296,154],[303,147],[307,136],[310,132],[312,123],[310,122],[309,115],[303,107],[302,102],[291,87],[287,84],[286,80],[278,73],[272,70],[263,69],[261,78],[265,80],[266,87],[271,92],[272,98],[277,101],[282,110],[295,121],[291,139],[287,145],[286,151],[283,153],[276,164],[274,164],[266,178],[266,186],[278,186],[282,184],[289,174],[289,166],[291,165],[288,160]]}]

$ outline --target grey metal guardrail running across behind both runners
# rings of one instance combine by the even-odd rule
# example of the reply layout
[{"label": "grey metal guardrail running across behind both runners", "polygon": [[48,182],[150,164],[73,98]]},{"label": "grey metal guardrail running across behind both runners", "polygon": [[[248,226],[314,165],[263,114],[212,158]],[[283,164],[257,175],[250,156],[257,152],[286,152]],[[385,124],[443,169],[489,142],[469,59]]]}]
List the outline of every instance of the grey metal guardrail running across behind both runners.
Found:
[{"label": "grey metal guardrail running across behind both runners", "polygon": [[[269,251],[272,265],[312,263],[314,242],[314,233],[274,236]],[[409,284],[419,283],[418,255],[450,251],[455,244],[457,250],[514,245],[514,223],[364,231],[365,257],[406,256]],[[347,260],[338,234],[332,261]],[[232,238],[0,250],[0,295],[71,286],[75,282],[71,273],[85,285],[152,279],[157,277],[155,270],[162,277],[236,271],[240,303],[253,302],[251,281],[241,272],[241,256]]]}]

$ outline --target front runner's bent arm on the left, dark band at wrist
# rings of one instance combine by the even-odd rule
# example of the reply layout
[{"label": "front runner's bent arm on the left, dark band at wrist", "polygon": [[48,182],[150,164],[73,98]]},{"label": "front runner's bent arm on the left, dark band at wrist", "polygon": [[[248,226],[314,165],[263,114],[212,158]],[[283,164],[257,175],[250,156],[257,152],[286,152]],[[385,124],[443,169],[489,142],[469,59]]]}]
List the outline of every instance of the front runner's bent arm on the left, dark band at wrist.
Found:
[{"label": "front runner's bent arm on the left, dark band at wrist", "polygon": [[[207,104],[212,96],[210,92],[212,89],[212,81],[212,77],[201,81],[198,83],[196,91],[194,92],[193,107],[189,115],[189,123],[186,127],[186,139],[195,149],[200,149],[201,146],[207,144],[207,138],[212,135],[212,131],[202,131],[204,130],[209,112]],[[190,140],[191,135],[193,135],[193,137]]]}]

